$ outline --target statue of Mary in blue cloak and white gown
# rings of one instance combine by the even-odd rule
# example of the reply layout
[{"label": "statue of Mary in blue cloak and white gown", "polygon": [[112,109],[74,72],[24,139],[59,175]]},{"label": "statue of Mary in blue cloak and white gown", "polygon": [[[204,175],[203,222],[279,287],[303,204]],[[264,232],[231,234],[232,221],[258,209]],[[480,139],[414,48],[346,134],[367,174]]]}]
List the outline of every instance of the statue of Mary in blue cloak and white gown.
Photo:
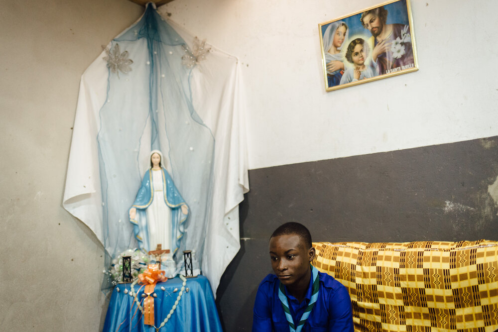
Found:
[{"label": "statue of Mary in blue cloak and white gown", "polygon": [[145,172],[129,209],[129,221],[138,246],[149,251],[160,243],[162,249],[170,249],[170,255],[174,254],[180,246],[187,216],[187,204],[164,168],[162,153],[151,151],[150,169]]}]

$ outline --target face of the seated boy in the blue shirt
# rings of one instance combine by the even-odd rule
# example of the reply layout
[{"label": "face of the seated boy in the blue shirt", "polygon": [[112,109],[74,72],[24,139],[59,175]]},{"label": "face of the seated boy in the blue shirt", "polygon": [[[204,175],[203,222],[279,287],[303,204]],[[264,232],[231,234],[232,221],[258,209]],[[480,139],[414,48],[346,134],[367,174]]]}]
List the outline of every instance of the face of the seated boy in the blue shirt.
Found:
[{"label": "face of the seated boy in the blue shirt", "polygon": [[305,279],[315,248],[306,248],[296,234],[274,236],[270,238],[269,247],[271,267],[282,284],[298,284]]}]

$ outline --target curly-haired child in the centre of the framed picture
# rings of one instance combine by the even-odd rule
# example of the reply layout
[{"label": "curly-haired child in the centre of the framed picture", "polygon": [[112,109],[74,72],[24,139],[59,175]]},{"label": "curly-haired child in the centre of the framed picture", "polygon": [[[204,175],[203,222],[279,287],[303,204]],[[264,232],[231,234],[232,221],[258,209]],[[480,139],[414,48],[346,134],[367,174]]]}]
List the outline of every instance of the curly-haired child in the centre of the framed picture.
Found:
[{"label": "curly-haired child in the centre of the framed picture", "polygon": [[341,78],[341,84],[355,82],[378,75],[373,61],[367,63],[368,45],[362,38],[356,38],[348,45],[346,60],[353,64],[348,68]]}]

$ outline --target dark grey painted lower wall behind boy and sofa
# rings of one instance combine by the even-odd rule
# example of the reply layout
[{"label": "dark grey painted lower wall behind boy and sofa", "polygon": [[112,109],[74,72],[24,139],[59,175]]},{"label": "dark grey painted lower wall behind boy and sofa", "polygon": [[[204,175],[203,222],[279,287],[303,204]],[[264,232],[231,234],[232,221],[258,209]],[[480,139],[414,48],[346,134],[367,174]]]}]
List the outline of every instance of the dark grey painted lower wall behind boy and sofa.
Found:
[{"label": "dark grey painted lower wall behind boy and sofa", "polygon": [[498,136],[249,171],[241,250],[217,292],[225,331],[250,331],[268,239],[283,222],[314,241],[498,239]]}]

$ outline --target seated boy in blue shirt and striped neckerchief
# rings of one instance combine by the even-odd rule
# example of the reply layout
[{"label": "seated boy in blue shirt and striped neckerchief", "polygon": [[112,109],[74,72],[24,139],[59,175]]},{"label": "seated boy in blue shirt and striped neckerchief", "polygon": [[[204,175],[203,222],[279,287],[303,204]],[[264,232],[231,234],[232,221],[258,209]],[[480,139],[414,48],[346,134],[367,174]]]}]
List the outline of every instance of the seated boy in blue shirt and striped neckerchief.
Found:
[{"label": "seated boy in blue shirt and striped neckerchief", "polygon": [[354,331],[346,287],[310,264],[315,248],[308,228],[284,223],[271,235],[269,249],[275,274],[259,284],[253,332]]}]

